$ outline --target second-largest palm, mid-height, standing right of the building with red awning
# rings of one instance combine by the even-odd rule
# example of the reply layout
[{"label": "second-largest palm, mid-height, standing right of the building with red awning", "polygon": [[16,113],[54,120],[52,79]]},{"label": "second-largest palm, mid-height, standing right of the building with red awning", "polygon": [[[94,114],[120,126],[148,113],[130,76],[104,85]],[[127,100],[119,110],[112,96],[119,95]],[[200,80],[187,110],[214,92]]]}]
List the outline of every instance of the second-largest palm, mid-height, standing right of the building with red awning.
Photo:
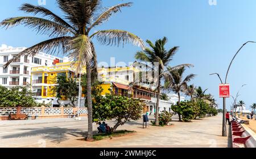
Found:
[{"label": "second-largest palm, mid-height, standing right of the building with red awning", "polygon": [[[155,44],[153,44],[150,40],[147,40],[147,44],[150,45],[151,48],[145,48],[144,51],[139,51],[135,55],[137,60],[141,60],[143,62],[151,62],[151,64],[155,64],[152,66],[152,69],[157,72],[157,76],[155,77],[157,83],[157,99],[156,99],[156,114],[155,114],[155,124],[159,125],[159,101],[160,101],[160,89],[161,89],[161,79],[164,76],[164,68],[168,66],[168,64],[172,61],[172,58],[176,54],[179,47],[173,47],[169,51],[164,48],[164,45],[167,43],[167,37],[163,37],[163,39],[156,40]],[[190,64],[183,64],[179,66],[175,66],[173,69],[178,69],[183,66],[192,66]]]}]

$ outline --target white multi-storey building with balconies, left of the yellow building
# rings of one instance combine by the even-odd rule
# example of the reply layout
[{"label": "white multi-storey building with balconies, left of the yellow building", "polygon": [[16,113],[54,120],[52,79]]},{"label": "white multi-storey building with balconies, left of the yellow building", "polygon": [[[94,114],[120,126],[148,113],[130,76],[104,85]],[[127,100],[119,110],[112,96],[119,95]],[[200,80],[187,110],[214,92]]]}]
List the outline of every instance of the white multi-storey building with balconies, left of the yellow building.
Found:
[{"label": "white multi-storey building with balconies, left of the yellow building", "polygon": [[24,49],[26,48],[13,48],[2,44],[0,47],[0,85],[5,87],[30,85],[32,67],[51,66],[55,60],[63,61],[62,58],[40,52],[34,57],[20,57],[7,68],[3,67],[7,61],[24,51]]}]

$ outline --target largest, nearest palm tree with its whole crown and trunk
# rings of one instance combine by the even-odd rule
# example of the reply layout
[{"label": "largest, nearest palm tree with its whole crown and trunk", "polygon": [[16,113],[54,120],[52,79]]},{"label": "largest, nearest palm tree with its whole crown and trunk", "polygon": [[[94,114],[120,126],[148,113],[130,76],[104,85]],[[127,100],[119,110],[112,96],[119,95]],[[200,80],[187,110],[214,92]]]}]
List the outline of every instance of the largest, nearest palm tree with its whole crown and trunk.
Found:
[{"label": "largest, nearest palm tree with its whole crown and trunk", "polygon": [[[92,90],[91,82],[97,74],[96,51],[92,39],[95,37],[102,45],[117,45],[132,43],[144,48],[143,41],[136,35],[123,30],[101,30],[91,34],[93,28],[108,21],[122,7],[130,7],[132,3],[123,3],[104,9],[101,0],[56,0],[64,17],[54,14],[43,6],[24,4],[20,10],[33,14],[34,16],[19,16],[5,19],[0,26],[10,28],[23,24],[33,28],[39,34],[48,35],[49,40],[42,41],[34,46],[20,52],[18,56],[35,56],[40,51],[53,54],[55,51],[63,53],[73,60],[72,65],[77,74],[81,74],[82,68],[86,66],[87,76],[87,105],[88,105],[88,137],[93,140],[92,127]],[[102,12],[102,10],[104,10]],[[36,15],[41,15],[36,17]],[[92,74],[91,74],[92,73]]]}]

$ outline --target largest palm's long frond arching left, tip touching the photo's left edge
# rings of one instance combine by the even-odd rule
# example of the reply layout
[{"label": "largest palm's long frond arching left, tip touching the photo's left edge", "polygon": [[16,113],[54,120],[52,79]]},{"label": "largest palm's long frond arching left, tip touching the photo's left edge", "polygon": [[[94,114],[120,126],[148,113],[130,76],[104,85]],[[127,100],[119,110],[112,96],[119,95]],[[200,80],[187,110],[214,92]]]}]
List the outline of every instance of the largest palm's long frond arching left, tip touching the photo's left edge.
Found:
[{"label": "largest palm's long frond arching left, tip touching the photo's left edge", "polygon": [[14,18],[5,19],[0,23],[0,26],[10,28],[18,25],[33,28],[38,34],[52,36],[65,36],[69,32],[69,28],[62,26],[61,24],[52,22],[51,20],[36,18],[32,16],[19,16]]}]

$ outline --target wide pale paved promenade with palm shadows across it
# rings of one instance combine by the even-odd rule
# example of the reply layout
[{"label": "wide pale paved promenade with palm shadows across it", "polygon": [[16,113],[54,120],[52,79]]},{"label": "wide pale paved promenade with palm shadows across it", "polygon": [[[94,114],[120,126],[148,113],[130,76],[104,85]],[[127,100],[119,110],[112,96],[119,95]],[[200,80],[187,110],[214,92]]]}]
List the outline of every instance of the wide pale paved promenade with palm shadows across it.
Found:
[{"label": "wide pale paved promenade with palm shadows across it", "polygon": [[[0,147],[228,147],[228,137],[221,136],[221,115],[193,120],[192,123],[175,120],[176,117],[169,127],[149,126],[147,129],[142,128],[142,120],[127,123],[120,129],[137,133],[93,143],[77,140],[86,136],[86,120],[9,127],[0,125]],[[97,125],[93,127],[96,133]]]}]

